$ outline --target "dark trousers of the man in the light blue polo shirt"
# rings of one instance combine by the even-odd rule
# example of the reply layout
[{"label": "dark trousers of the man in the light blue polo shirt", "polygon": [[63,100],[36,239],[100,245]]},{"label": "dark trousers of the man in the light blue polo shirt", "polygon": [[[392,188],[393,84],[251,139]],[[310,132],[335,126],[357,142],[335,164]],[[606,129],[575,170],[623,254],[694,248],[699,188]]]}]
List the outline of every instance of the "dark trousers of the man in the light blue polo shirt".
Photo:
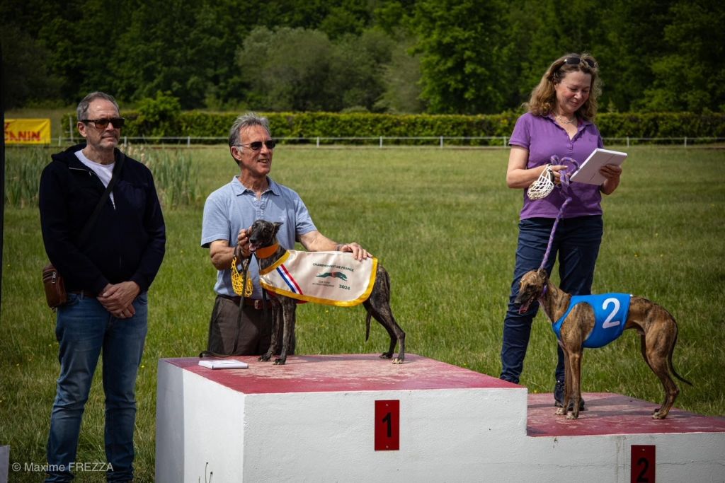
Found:
[{"label": "dark trousers of the man in the light blue polo shirt", "polygon": [[[280,332],[282,332],[280,330]],[[277,348],[282,349],[282,334],[277,335]],[[272,341],[272,308],[266,310],[242,306],[239,299],[217,295],[209,322],[207,350],[228,356],[261,356]],[[289,354],[294,354],[292,334]]]}]

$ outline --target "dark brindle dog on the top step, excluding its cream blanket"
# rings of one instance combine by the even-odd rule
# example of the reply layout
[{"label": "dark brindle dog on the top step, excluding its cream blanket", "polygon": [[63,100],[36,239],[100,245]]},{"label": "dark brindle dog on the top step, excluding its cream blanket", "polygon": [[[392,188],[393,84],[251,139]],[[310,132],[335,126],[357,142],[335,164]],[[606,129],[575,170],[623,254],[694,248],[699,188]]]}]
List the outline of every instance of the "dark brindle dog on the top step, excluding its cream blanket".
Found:
[{"label": "dark brindle dog on the top step, excluding its cream blanket", "polygon": [[[260,257],[258,252],[262,248],[267,248],[277,243],[277,231],[281,226],[281,222],[268,222],[258,219],[252,224],[249,230],[249,250],[257,256],[257,264],[259,264],[260,272],[275,264],[286,252],[286,249],[277,244],[277,249],[269,256]],[[269,361],[273,354],[278,353],[276,334],[279,333],[280,326],[283,326],[282,332],[282,350],[279,357],[275,359],[274,364],[285,364],[287,360],[287,352],[294,333],[294,324],[296,322],[297,301],[284,295],[275,294],[270,298],[272,307],[272,343],[270,349],[260,361]],[[380,264],[377,266],[376,279],[370,296],[363,302],[365,310],[368,311],[365,320],[365,340],[370,336],[370,316],[374,317],[380,324],[385,327],[390,336],[390,346],[387,352],[381,354],[381,358],[392,358],[395,345],[399,344],[400,350],[398,356],[393,359],[393,364],[402,364],[405,361],[405,332],[395,322],[393,312],[390,308],[390,276],[386,269]]]}]

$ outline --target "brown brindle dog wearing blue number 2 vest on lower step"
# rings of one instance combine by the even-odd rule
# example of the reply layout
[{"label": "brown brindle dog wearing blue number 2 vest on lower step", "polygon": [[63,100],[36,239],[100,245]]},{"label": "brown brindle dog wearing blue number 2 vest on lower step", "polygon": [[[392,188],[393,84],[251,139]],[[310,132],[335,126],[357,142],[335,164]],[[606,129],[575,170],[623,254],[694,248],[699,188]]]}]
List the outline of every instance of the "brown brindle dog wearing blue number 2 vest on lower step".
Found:
[{"label": "brown brindle dog wearing blue number 2 vest on lower step", "polygon": [[[567,419],[579,417],[581,356],[584,348],[601,347],[621,335],[624,329],[636,329],[639,332],[642,356],[665,389],[665,400],[660,408],[655,409],[653,419],[664,419],[679,394],[671,374],[692,385],[677,374],[672,365],[672,353],[677,343],[677,323],[658,304],[626,294],[572,296],[550,282],[544,269],[531,270],[521,277],[515,303],[521,304],[519,312],[523,313],[536,300],[552,321],[564,352],[565,394],[563,407],[558,408],[557,414],[566,414]],[[629,311],[623,307],[627,304]],[[597,316],[598,313],[602,316]]]}]

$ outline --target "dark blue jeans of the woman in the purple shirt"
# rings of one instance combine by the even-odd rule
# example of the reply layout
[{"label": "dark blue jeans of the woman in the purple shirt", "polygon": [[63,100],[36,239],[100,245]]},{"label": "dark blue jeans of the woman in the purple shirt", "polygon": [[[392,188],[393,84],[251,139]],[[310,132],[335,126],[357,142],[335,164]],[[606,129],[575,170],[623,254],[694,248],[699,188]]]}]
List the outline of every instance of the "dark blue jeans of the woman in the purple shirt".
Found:
[{"label": "dark blue jeans of the woman in the purple shirt", "polygon": [[[511,295],[508,311],[503,323],[503,344],[501,348],[501,379],[518,384],[523,371],[523,358],[531,336],[531,322],[534,320],[539,303],[532,303],[529,311],[519,314],[519,306],[514,303],[518,295],[518,284],[523,274],[538,269],[544,259],[549,235],[554,224],[552,218],[523,219],[518,224],[518,248],[516,266],[513,272]],[[560,287],[572,295],[592,293],[594,269],[602,243],[604,225],[601,216],[561,219],[552,243],[547,273],[551,274],[559,257]],[[564,380],[564,354],[558,347],[556,380]]]}]

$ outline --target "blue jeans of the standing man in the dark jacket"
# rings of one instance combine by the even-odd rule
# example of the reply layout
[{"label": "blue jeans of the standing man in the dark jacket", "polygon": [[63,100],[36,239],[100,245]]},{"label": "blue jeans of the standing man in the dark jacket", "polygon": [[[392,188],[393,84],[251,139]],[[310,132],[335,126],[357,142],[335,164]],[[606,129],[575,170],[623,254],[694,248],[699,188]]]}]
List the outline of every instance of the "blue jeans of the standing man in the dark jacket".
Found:
[{"label": "blue jeans of the standing man in the dark jacket", "polygon": [[[133,428],[136,422],[136,375],[146,340],[146,293],[133,301],[136,314],[116,319],[96,298],[68,294],[58,308],[56,337],[60,343],[60,376],[48,438],[49,476],[46,482],[73,478],[80,420],[91,381],[103,351],[106,395],[106,458],[109,481],[133,479]],[[79,461],[77,463],[91,463]],[[112,468],[112,469],[111,469]]]}]

